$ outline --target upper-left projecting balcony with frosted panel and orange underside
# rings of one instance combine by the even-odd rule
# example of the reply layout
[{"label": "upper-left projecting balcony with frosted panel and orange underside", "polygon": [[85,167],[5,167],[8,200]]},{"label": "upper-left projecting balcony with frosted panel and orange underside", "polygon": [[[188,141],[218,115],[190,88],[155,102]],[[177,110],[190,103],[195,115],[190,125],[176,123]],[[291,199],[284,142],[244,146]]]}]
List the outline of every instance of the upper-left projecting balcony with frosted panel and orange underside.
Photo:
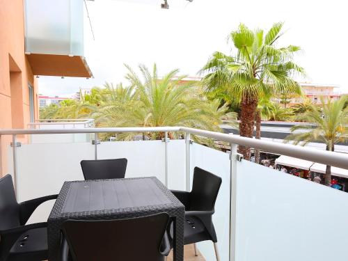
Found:
[{"label": "upper-left projecting balcony with frosted panel and orange underside", "polygon": [[25,52],[33,74],[92,77],[84,58],[84,0],[24,1]]}]

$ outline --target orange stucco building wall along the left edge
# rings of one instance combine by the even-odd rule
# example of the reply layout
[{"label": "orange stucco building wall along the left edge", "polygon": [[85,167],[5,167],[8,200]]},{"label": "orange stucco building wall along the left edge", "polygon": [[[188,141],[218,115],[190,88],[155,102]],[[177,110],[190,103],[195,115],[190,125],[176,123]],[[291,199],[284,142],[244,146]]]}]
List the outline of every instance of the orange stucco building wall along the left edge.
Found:
[{"label": "orange stucco building wall along the left edge", "polygon": [[[0,0],[0,129],[26,128],[30,121],[29,84],[38,118],[38,86],[24,54],[23,1]],[[12,136],[0,138],[0,176],[8,173],[10,141]]]}]

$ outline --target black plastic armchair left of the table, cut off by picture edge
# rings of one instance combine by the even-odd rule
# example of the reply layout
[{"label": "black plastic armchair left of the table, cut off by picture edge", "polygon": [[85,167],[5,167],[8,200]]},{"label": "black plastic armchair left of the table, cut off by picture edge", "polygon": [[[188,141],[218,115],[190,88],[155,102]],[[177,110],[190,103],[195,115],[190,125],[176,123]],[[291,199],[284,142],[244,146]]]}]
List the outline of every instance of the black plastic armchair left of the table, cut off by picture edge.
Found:
[{"label": "black plastic armchair left of the table, cut off by picture edge", "polygon": [[58,195],[18,204],[12,177],[0,179],[0,261],[47,260],[47,223],[26,225],[36,207]]}]

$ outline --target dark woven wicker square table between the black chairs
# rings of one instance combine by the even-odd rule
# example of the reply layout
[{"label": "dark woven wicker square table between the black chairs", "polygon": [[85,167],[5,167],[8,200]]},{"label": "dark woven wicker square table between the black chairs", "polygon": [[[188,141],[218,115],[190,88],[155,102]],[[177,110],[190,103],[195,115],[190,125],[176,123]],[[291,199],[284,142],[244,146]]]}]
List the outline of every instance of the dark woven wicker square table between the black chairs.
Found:
[{"label": "dark woven wicker square table between the black chairs", "polygon": [[60,228],[67,219],[127,219],[161,212],[173,219],[174,260],[182,261],[184,205],[156,177],[65,182],[49,214],[49,261],[60,261]]}]

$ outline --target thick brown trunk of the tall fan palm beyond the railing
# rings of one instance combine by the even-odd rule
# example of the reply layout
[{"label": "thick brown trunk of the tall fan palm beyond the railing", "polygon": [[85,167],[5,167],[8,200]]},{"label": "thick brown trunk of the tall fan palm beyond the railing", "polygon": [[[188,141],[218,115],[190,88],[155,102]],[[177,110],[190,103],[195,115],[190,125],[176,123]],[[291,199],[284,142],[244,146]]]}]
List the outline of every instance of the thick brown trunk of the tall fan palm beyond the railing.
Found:
[{"label": "thick brown trunk of the tall fan palm beyond the railing", "polygon": [[[254,131],[255,111],[258,100],[250,97],[243,97],[241,102],[241,117],[239,123],[240,136],[252,138]],[[244,159],[250,160],[250,148],[239,146],[239,153]]]}]

